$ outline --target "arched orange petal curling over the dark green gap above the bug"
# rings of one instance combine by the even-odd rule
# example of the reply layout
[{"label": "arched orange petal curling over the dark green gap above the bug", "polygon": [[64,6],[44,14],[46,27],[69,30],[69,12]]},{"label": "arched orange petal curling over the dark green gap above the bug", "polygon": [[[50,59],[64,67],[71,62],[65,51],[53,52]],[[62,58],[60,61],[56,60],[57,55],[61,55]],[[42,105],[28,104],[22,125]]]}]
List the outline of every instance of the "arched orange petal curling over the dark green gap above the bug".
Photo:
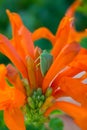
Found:
[{"label": "arched orange petal curling over the dark green gap above the bug", "polygon": [[45,27],[39,28],[32,33],[33,41],[39,40],[41,38],[45,38],[45,39],[51,41],[52,45],[55,44],[54,35]]}]

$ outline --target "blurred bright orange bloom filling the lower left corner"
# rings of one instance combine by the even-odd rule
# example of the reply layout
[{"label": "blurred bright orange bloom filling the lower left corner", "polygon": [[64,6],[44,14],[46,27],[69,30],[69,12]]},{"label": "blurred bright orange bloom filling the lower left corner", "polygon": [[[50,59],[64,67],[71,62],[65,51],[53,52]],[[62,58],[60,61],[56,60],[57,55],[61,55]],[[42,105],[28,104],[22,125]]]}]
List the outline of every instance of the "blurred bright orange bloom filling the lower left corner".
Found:
[{"label": "blurred bright orange bloom filling the lower left corner", "polygon": [[11,87],[7,83],[6,75],[7,69],[3,64],[1,64],[0,110],[4,110],[4,120],[9,129],[25,130],[24,117],[20,110],[25,103],[25,95],[17,86]]}]

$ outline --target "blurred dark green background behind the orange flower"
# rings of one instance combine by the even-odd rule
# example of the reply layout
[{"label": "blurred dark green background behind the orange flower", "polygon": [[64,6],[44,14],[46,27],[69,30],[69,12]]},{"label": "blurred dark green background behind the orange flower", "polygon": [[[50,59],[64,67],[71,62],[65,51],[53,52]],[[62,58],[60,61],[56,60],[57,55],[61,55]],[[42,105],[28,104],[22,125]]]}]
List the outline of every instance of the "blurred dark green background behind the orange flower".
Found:
[{"label": "blurred dark green background behind the orange flower", "polygon": [[[74,0],[0,0],[0,33],[11,38],[11,26],[6,15],[6,9],[20,14],[24,24],[31,32],[39,27],[47,27],[53,34],[67,8]],[[77,9],[76,29],[83,31],[87,28],[87,0]],[[42,44],[41,44],[42,43]],[[51,49],[51,44],[45,39],[38,40],[35,45],[42,49]],[[0,54],[0,63],[7,64],[9,60]],[[0,113],[0,130],[6,130]]]}]

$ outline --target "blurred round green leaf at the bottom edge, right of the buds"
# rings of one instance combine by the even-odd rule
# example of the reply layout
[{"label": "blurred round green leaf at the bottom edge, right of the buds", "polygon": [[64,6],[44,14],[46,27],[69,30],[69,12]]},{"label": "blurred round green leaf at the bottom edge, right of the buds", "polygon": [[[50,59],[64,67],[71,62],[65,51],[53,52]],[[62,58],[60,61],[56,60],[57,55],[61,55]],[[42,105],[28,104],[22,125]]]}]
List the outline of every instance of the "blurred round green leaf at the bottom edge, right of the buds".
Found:
[{"label": "blurred round green leaf at the bottom edge, right of the buds", "polygon": [[63,122],[59,118],[52,118],[49,122],[49,127],[52,130],[63,130]]}]

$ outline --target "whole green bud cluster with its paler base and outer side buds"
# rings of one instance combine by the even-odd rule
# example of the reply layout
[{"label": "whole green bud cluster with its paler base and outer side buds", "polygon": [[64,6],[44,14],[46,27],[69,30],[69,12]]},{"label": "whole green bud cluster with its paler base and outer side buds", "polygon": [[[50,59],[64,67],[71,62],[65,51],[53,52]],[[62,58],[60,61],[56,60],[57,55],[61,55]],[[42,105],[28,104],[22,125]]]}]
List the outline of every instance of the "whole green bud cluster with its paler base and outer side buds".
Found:
[{"label": "whole green bud cluster with its paler base and outer side buds", "polygon": [[44,95],[41,88],[31,91],[27,79],[23,79],[22,82],[27,94],[27,104],[23,107],[25,122],[35,126],[43,124],[48,118],[44,117],[42,107],[46,99],[51,96],[52,89],[48,88]]}]

